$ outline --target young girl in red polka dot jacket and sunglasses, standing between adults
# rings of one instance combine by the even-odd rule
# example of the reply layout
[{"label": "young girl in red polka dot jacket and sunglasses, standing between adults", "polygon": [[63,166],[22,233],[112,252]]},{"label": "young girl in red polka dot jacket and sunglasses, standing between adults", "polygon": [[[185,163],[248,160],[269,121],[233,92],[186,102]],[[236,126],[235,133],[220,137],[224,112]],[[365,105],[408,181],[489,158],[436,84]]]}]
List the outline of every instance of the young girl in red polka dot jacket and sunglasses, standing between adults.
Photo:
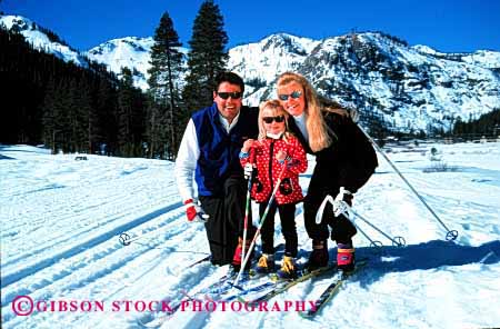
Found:
[{"label": "young girl in red polka dot jacket and sunglasses, standing between adults", "polygon": [[283,278],[292,278],[297,273],[296,203],[303,199],[299,173],[304,172],[308,167],[306,151],[287,129],[288,116],[278,100],[262,102],[259,111],[259,138],[247,140],[240,152],[241,166],[244,168],[252,164],[256,168],[251,196],[259,203],[260,218],[281,178],[274,201],[270,205],[261,228],[262,256],[257,270],[269,272],[274,269],[274,215],[278,209],[284,237],[284,257],[278,275]]}]

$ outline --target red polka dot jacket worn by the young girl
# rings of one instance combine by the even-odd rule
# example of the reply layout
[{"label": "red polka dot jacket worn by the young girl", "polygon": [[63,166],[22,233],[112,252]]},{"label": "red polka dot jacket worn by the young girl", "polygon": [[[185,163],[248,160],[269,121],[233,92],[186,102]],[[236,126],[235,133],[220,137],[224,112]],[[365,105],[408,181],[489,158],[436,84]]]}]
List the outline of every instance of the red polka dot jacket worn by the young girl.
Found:
[{"label": "red polka dot jacket worn by the young girl", "polygon": [[[280,163],[276,154],[280,151],[287,153],[287,160]],[[299,173],[308,169],[306,151],[299,140],[289,136],[287,141],[281,139],[266,138],[259,140],[259,146],[253,147],[254,164],[251,197],[257,202],[267,202],[272,190],[282,173],[280,186],[276,193],[278,205],[297,203],[303,199],[302,189],[299,185]],[[241,153],[241,166],[250,161],[248,154]]]}]

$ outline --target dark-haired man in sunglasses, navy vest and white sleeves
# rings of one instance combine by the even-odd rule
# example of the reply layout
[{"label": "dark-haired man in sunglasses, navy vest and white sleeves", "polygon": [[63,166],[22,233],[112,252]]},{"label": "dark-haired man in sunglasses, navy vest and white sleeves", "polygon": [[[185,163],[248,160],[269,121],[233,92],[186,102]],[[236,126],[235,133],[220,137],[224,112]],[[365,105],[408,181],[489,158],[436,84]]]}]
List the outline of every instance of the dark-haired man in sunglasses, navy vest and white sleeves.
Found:
[{"label": "dark-haired man in sunglasses, navy vest and white sleeves", "polygon": [[[247,139],[258,136],[258,111],[242,106],[244,84],[238,74],[222,72],[216,86],[213,104],[194,112],[188,122],[177,156],[176,179],[188,220],[206,221],[211,262],[231,262],[238,271],[247,196],[239,152]],[[247,237],[253,237],[254,231],[250,217]]]}]

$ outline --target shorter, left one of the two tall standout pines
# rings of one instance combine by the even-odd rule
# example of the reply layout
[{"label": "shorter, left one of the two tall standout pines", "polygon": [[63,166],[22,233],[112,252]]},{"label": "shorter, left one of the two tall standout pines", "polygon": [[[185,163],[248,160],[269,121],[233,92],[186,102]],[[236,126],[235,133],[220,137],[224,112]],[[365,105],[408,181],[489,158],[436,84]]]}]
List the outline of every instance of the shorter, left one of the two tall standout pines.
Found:
[{"label": "shorter, left one of the two tall standout pines", "polygon": [[[154,44],[151,48],[151,69],[148,70],[149,106],[148,128],[149,151],[152,158],[164,152],[163,144],[168,144],[167,158],[173,158],[177,151],[177,133],[174,112],[179,108],[179,78],[182,72],[183,54],[179,51],[179,36],[173,29],[173,22],[168,12],[160,19],[154,31]],[[168,109],[168,116],[167,111]]]}]

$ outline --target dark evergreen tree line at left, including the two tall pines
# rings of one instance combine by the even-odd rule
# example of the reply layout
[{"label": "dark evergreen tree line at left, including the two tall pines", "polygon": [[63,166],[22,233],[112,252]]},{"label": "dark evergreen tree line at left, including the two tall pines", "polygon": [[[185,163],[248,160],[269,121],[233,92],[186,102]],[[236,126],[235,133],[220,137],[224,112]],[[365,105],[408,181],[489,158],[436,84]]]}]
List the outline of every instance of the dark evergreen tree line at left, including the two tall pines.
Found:
[{"label": "dark evergreen tree line at left, including the two tall pines", "polygon": [[0,142],[174,159],[191,112],[212,102],[214,78],[228,61],[228,37],[219,7],[207,0],[187,58],[168,12],[153,39],[149,88],[142,92],[129,68],[120,79],[90,60],[82,68],[33,48],[14,29],[0,28]]}]

